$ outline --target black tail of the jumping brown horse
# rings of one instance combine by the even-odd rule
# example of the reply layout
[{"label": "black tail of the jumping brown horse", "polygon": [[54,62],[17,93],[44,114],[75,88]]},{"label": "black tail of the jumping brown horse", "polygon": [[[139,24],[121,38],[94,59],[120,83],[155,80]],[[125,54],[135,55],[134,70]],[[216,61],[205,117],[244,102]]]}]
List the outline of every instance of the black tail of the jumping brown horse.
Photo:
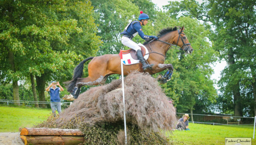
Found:
[{"label": "black tail of the jumping brown horse", "polygon": [[94,58],[94,57],[86,58],[86,59],[84,59],[83,61],[81,61],[81,62],[76,66],[76,68],[74,69],[74,75],[73,75],[72,80],[65,82],[65,84],[68,84],[68,86],[67,86],[67,91],[68,91],[68,92],[70,92],[70,93],[72,92],[73,88],[74,88],[75,85],[76,85],[76,79],[82,77],[82,75],[83,75],[83,69],[84,69],[84,63],[85,63],[86,61],[89,61],[89,60],[93,59],[93,58]]}]

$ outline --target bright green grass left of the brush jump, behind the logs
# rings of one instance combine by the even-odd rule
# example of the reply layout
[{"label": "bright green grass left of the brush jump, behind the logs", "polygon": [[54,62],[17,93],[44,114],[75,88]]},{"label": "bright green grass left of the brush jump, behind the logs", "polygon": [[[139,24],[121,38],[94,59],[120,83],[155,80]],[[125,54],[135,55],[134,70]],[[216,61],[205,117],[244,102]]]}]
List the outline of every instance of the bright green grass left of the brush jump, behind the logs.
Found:
[{"label": "bright green grass left of the brush jump, behind the logs", "polygon": [[20,127],[32,127],[46,120],[51,112],[50,109],[0,106],[0,132],[18,132]]}]

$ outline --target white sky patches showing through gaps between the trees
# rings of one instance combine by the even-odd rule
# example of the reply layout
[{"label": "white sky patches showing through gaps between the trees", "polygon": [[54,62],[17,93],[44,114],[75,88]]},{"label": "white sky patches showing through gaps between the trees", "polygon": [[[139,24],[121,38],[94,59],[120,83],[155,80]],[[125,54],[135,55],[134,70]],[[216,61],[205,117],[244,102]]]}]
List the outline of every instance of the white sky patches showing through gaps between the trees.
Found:
[{"label": "white sky patches showing through gaps between the trees", "polygon": [[[180,1],[180,0],[151,0],[151,1],[161,9],[162,6],[168,5],[169,1]],[[203,0],[197,0],[197,1],[198,3],[203,2]],[[211,79],[212,80],[215,79],[218,81],[221,76],[221,71],[226,67],[226,65],[227,65],[226,61],[215,62],[215,64],[211,65],[212,69],[214,70],[214,73],[212,74]],[[217,86],[215,86],[215,88],[218,89]]]}]

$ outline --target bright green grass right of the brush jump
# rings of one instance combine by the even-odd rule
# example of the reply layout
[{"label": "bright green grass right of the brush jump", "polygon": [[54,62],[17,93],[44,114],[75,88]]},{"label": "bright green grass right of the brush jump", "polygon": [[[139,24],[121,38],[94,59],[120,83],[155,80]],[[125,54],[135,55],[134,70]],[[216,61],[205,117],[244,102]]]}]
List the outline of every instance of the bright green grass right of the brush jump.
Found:
[{"label": "bright green grass right of the brush jump", "polygon": [[[173,131],[171,140],[175,145],[225,145],[225,137],[251,137],[253,126],[204,125],[189,123],[190,131]],[[166,136],[168,134],[166,133]]]}]

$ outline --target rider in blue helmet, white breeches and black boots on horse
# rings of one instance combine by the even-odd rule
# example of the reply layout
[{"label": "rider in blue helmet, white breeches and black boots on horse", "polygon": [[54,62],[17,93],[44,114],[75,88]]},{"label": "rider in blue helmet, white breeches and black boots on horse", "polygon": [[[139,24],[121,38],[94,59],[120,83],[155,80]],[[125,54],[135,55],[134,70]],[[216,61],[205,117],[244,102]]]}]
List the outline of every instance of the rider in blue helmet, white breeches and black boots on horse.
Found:
[{"label": "rider in blue helmet, white breeches and black boots on horse", "polygon": [[140,37],[143,39],[154,38],[157,40],[157,36],[144,35],[144,33],[142,31],[141,26],[142,25],[145,26],[148,23],[148,19],[150,19],[148,17],[148,14],[145,14],[142,11],[140,11],[140,16],[138,19],[139,21],[137,21],[137,20],[132,21],[125,27],[125,30],[120,33],[120,34],[123,34],[123,36],[121,38],[122,44],[130,47],[131,49],[134,49],[137,52],[137,56],[143,65],[143,70],[151,68],[154,64],[149,65],[145,62],[145,59],[143,58],[140,46],[138,44],[136,44],[134,41],[132,41],[131,39],[134,38],[137,34],[139,34]]}]

